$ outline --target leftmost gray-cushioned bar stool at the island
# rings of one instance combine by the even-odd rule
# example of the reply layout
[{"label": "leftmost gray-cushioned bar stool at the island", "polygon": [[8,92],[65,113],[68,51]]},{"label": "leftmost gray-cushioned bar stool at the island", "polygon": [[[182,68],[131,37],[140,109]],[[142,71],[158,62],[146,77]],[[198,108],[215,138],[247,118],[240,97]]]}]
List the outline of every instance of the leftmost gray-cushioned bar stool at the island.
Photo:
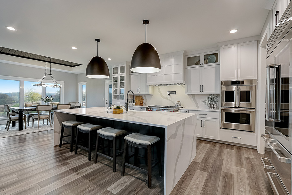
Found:
[{"label": "leftmost gray-cushioned bar stool at the island", "polygon": [[[62,147],[62,141],[66,141],[67,143],[70,143],[70,152],[73,152],[73,144],[74,144],[74,140],[75,140],[75,129],[78,125],[81,125],[81,124],[83,124],[83,122],[79,122],[79,121],[64,121],[64,122],[62,122],[60,145],[59,145],[60,148]],[[71,129],[71,134],[64,136],[64,128]],[[64,139],[64,137],[69,137],[69,136],[71,136],[70,140]]]}]

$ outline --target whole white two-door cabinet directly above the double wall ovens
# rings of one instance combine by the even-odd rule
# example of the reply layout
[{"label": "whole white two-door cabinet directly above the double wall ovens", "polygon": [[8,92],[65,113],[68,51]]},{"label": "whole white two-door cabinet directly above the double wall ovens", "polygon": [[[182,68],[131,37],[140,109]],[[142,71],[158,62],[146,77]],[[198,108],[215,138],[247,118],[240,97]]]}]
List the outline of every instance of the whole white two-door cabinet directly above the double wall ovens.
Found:
[{"label": "whole white two-door cabinet directly above the double wall ovens", "polygon": [[257,78],[257,41],[220,47],[220,80]]}]

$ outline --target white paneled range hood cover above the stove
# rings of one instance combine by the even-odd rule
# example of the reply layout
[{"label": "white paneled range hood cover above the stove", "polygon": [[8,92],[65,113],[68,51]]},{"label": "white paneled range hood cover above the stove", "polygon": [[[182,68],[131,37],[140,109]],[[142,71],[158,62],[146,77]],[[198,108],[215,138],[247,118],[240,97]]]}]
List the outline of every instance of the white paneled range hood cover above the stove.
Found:
[{"label": "white paneled range hood cover above the stove", "polygon": [[159,55],[161,71],[147,74],[147,85],[185,84],[185,51]]}]

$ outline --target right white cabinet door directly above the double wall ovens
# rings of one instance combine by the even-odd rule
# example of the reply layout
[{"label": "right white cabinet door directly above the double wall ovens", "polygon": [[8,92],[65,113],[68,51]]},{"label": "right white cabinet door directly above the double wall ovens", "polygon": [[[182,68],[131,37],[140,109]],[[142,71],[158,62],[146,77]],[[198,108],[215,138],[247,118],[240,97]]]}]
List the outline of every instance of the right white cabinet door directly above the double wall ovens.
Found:
[{"label": "right white cabinet door directly above the double wall ovens", "polygon": [[256,79],[258,64],[257,41],[238,44],[237,78]]}]

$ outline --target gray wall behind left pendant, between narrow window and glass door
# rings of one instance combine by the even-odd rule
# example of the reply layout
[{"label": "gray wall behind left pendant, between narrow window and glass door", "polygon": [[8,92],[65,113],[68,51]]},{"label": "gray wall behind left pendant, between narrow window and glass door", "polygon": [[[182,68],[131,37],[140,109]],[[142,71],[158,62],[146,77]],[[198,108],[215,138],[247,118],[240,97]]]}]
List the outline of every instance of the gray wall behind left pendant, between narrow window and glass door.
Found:
[{"label": "gray wall behind left pendant, between narrow window and glass door", "polygon": [[[109,68],[110,70],[110,75],[112,72],[112,69]],[[79,82],[87,82],[86,83],[86,88],[87,88],[87,106],[86,107],[98,107],[98,106],[104,106],[104,85],[105,85],[105,80],[111,80],[110,78],[107,79],[90,79],[85,77],[85,73],[78,74],[77,75],[77,85]]]}]

